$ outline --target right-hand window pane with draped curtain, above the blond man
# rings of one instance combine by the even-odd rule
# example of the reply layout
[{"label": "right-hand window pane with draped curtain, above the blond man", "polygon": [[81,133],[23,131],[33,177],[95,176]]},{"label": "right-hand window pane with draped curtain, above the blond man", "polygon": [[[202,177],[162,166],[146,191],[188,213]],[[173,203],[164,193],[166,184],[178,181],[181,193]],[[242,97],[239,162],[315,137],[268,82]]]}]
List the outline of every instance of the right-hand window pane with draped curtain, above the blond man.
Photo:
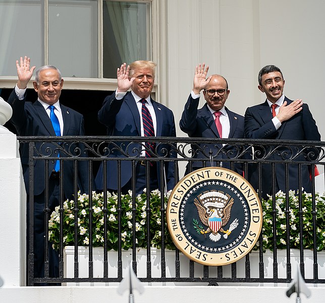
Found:
[{"label": "right-hand window pane with draped curtain, above the blond man", "polygon": [[150,3],[103,1],[103,77],[123,62],[151,59]]}]

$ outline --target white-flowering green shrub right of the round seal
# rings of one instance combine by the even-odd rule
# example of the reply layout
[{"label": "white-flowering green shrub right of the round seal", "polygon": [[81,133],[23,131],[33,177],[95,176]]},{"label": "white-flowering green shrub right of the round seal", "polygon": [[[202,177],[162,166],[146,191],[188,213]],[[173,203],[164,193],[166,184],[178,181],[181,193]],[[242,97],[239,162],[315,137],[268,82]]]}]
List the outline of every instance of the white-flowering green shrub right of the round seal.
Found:
[{"label": "white-flowering green shrub right of the round seal", "polygon": [[[324,249],[325,245],[325,197],[315,194],[316,204],[316,238],[317,250]],[[263,250],[273,250],[273,200],[269,196],[262,200],[263,209]],[[290,248],[300,248],[300,225],[299,225],[299,198],[294,191],[289,192],[289,233]],[[302,244],[305,249],[313,249],[313,218],[312,198],[310,193],[302,194]],[[282,191],[276,193],[276,230],[277,248],[285,249],[287,243],[287,217],[286,217],[286,194]],[[257,243],[257,245],[259,245]],[[255,246],[257,250],[258,247]]]}]

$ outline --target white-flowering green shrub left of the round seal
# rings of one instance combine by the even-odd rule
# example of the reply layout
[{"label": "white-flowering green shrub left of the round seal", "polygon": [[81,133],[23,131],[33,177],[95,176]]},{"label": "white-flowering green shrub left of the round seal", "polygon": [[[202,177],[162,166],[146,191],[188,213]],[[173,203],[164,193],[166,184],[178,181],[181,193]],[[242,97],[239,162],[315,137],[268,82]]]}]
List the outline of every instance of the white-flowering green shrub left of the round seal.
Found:
[{"label": "white-flowering green shrub left of the round seal", "polygon": [[[170,194],[170,193],[169,193]],[[165,197],[165,208],[169,198]],[[145,248],[147,245],[147,194],[144,191],[135,200],[135,237],[137,247]],[[161,245],[161,202],[160,192],[153,190],[150,192],[150,244],[152,247],[159,248]],[[74,200],[64,202],[63,212],[63,234],[64,246],[74,245],[75,232],[75,203]],[[123,249],[129,249],[133,244],[132,234],[132,192],[121,196],[121,243]],[[77,206],[78,218],[78,245],[89,245],[89,195],[78,194]],[[118,249],[119,223],[118,223],[118,196],[107,192],[107,249]],[[60,241],[60,212],[56,207],[52,212],[48,222],[49,241],[53,248],[59,248]],[[92,193],[92,245],[103,246],[104,243],[104,198],[103,193]],[[165,247],[175,249],[174,243],[169,235],[165,223]]]}]

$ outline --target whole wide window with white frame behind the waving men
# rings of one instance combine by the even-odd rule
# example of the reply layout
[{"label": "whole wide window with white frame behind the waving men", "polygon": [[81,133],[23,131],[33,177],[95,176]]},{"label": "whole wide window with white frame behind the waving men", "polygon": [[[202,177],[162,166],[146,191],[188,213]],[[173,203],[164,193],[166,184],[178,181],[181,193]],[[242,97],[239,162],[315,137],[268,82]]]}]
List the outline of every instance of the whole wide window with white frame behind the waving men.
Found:
[{"label": "whole wide window with white frame behind the waving men", "polygon": [[152,1],[0,0],[0,76],[27,55],[63,77],[115,79],[123,62],[152,60]]}]

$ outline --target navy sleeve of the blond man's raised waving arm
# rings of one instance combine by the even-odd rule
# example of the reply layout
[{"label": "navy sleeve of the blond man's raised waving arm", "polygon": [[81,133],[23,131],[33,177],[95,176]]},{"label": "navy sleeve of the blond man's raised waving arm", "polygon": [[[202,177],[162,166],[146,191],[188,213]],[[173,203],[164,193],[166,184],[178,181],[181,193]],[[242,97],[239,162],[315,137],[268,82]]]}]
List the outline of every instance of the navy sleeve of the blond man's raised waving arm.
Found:
[{"label": "navy sleeve of the blond man's raised waving arm", "polygon": [[116,99],[115,93],[104,99],[103,106],[98,112],[98,121],[107,127],[107,134],[110,134],[114,128],[116,115],[121,109],[123,100],[124,98]]}]

